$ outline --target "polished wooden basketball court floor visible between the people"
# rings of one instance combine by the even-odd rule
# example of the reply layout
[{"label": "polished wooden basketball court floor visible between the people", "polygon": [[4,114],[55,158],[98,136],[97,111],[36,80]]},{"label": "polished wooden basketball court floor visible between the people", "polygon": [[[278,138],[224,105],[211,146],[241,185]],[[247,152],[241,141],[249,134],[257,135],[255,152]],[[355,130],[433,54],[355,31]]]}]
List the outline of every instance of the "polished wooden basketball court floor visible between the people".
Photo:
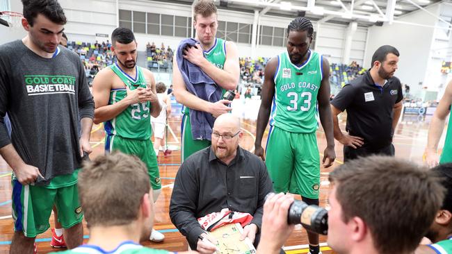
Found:
[{"label": "polished wooden basketball court floor visible between the people", "polygon": [[[345,116],[342,114],[340,120],[341,128],[345,129]],[[168,133],[168,145],[170,146],[180,146],[180,123],[181,117],[171,116],[169,119],[170,132]],[[423,150],[425,149],[427,143],[428,134],[428,124],[430,123],[429,117],[417,117],[409,116],[403,117],[400,124],[398,124],[396,129],[396,134],[394,138],[394,145],[396,147],[396,157],[405,158],[407,160],[412,160],[415,162],[422,162]],[[241,146],[249,151],[254,149],[255,133],[256,133],[256,123],[255,121],[242,121],[242,128],[244,131],[243,139],[241,140]],[[174,135],[172,135],[172,133]],[[264,135],[263,144],[266,142],[266,135]],[[91,135],[91,145],[93,152],[90,158],[95,158],[97,155],[102,155],[104,153],[104,128],[101,125],[95,125],[92,127]],[[443,135],[444,136],[444,135]],[[318,138],[318,148],[321,158],[323,158],[323,150],[325,149],[326,141],[325,135],[322,129],[317,131]],[[444,137],[439,143],[444,144]],[[337,160],[334,166],[329,169],[321,168],[321,206],[328,207],[328,192],[330,189],[328,183],[328,173],[337,167],[337,165],[342,164],[343,146],[336,141],[336,155]],[[177,231],[174,225],[170,221],[168,215],[168,206],[170,204],[170,196],[172,192],[172,184],[179,169],[180,165],[180,150],[173,151],[168,157],[163,157],[163,153],[159,154],[159,168],[160,176],[162,180],[163,191],[159,200],[156,202],[154,228],[163,232],[166,236],[162,243],[151,243],[149,241],[144,242],[145,246],[150,246],[152,248],[161,248],[168,251],[186,251],[187,243],[185,238]],[[0,157],[0,253],[8,253],[10,248],[10,241],[13,237],[13,219],[11,218],[11,185],[10,185],[11,169],[8,167],[6,162]],[[53,215],[50,218],[51,226],[54,225]],[[84,225],[84,235],[85,242],[88,239],[88,229],[86,228],[86,222],[83,221]],[[51,232],[50,229],[47,230],[42,235],[39,235],[36,239],[38,243],[38,253],[49,253],[51,251],[58,251],[57,249],[51,248],[50,244]],[[321,236],[321,250],[323,253],[333,253],[328,246],[326,246],[326,237]],[[289,240],[286,242],[285,250],[288,254],[295,253],[307,253],[307,235],[306,231],[297,226],[296,230],[292,233]]]}]

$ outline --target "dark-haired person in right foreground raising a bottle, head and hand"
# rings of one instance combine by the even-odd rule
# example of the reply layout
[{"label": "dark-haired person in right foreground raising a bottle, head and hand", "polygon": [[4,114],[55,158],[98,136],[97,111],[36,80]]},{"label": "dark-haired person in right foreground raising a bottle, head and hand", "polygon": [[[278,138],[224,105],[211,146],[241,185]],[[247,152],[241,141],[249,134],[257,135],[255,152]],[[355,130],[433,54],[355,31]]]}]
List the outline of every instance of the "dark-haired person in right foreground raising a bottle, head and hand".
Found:
[{"label": "dark-haired person in right foreground raising a bottle, head and hand", "polygon": [[[339,254],[412,253],[444,198],[435,172],[390,157],[350,161],[334,169],[329,180],[328,245]],[[268,198],[257,253],[277,253],[289,238],[292,202],[283,194]]]}]

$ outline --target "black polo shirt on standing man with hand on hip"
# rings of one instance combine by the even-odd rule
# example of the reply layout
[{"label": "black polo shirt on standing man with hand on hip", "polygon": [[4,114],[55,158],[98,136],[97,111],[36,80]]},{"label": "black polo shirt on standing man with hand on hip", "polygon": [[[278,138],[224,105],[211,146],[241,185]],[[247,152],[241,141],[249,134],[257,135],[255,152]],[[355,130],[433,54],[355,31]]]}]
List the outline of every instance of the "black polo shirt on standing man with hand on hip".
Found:
[{"label": "black polo shirt on standing man with hand on hip", "polygon": [[401,82],[389,78],[382,87],[366,74],[342,87],[331,104],[347,110],[346,130],[350,135],[363,137],[363,147],[380,149],[392,143],[392,110],[403,99]]}]

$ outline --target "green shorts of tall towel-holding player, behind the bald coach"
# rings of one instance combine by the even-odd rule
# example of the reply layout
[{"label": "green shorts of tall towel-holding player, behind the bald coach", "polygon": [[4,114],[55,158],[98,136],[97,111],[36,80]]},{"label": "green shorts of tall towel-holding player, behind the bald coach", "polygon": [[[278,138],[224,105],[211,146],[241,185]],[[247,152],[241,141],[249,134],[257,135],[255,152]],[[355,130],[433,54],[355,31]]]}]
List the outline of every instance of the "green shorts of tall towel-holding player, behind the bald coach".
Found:
[{"label": "green shorts of tall towel-holding player, behind the bald coach", "polygon": [[190,115],[188,113],[184,113],[184,117],[182,117],[181,136],[181,162],[184,162],[184,160],[186,160],[186,158],[193,153],[196,153],[197,151],[205,149],[211,145],[211,142],[207,139],[193,139],[193,135],[191,135]]}]

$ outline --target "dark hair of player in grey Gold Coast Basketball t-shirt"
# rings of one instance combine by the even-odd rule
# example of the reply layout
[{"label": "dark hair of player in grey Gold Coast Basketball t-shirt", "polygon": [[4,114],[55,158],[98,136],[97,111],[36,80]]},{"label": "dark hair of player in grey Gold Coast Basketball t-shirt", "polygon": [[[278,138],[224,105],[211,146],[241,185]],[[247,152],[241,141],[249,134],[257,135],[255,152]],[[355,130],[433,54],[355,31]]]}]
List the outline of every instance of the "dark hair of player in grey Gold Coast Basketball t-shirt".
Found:
[{"label": "dark hair of player in grey Gold Coast Basketball t-shirt", "polygon": [[66,24],[65,12],[56,0],[22,0],[22,4],[24,5],[22,12],[30,26],[33,26],[38,14],[44,15],[56,24]]}]

